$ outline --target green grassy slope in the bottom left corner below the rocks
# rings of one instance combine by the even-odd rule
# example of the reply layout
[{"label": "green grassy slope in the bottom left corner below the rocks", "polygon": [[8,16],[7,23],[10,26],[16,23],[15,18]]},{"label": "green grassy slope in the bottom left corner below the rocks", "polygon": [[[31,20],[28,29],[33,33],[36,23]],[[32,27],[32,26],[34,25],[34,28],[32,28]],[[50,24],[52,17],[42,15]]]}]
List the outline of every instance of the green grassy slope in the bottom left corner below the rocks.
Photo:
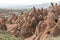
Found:
[{"label": "green grassy slope in the bottom left corner below the rocks", "polygon": [[21,40],[21,38],[17,38],[15,36],[12,36],[6,32],[0,31],[0,40]]}]

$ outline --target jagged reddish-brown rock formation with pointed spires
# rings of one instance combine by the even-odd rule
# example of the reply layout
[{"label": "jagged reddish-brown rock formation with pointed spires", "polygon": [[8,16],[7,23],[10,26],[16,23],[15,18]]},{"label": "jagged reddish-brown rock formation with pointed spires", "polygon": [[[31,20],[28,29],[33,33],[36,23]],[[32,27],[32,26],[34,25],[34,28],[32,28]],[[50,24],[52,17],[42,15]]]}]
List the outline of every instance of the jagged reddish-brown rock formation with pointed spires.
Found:
[{"label": "jagged reddish-brown rock formation with pointed spires", "polygon": [[59,5],[51,5],[47,9],[33,7],[20,16],[13,14],[8,19],[0,18],[0,29],[6,29],[8,33],[21,36],[24,40],[45,40],[49,35],[60,35],[59,13]]}]

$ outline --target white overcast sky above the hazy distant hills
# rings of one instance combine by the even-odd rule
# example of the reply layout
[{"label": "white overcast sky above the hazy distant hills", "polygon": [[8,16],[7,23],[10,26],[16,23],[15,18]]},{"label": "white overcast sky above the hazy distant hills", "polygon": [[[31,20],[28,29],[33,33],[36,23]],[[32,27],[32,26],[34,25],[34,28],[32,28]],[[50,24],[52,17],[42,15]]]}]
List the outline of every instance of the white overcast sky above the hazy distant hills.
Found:
[{"label": "white overcast sky above the hazy distant hills", "polygon": [[1,4],[32,5],[50,2],[60,2],[60,0],[0,0],[0,5]]}]

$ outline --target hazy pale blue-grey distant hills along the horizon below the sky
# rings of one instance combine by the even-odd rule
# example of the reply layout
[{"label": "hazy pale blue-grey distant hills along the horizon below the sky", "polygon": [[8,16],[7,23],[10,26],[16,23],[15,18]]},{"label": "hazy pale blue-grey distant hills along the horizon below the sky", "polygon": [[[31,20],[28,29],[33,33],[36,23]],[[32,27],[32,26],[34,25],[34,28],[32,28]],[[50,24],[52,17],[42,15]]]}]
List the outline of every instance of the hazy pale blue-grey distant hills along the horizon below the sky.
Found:
[{"label": "hazy pale blue-grey distant hills along the horizon below the sky", "polygon": [[[60,2],[54,2],[60,4]],[[36,8],[47,8],[50,5],[50,3],[44,3],[44,4],[34,4],[34,5],[12,5],[12,4],[4,4],[0,5],[0,8],[2,9],[29,9],[35,6]]]}]

